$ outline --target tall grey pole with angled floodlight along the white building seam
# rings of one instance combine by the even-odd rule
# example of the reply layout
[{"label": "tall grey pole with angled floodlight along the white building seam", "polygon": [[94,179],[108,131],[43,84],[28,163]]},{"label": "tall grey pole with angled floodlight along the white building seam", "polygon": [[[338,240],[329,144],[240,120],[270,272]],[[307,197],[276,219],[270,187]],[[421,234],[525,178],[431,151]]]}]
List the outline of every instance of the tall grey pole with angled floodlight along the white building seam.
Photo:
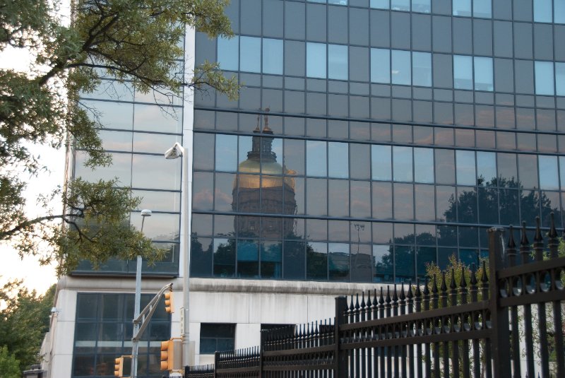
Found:
[{"label": "tall grey pole with angled floodlight along the white building seam", "polygon": [[181,220],[181,254],[184,256],[184,273],[182,282],[182,303],[181,327],[182,327],[182,365],[190,365],[189,353],[189,302],[190,302],[190,196],[191,182],[189,181],[189,154],[179,142],[165,152],[165,159],[182,158],[182,220]]}]

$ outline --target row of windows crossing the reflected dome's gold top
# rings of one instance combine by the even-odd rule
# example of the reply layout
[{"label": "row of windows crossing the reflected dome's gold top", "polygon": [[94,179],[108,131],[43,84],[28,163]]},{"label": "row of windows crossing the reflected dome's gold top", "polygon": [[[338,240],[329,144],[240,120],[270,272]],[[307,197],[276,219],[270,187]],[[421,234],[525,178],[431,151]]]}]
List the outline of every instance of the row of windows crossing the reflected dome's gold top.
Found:
[{"label": "row of windows crossing the reflected dome's gold top", "polygon": [[[249,158],[255,145],[261,146],[257,147],[261,150],[270,151],[268,159]],[[233,177],[234,187],[241,185],[239,180],[251,179],[254,174],[262,173],[265,180],[287,175],[458,185],[478,183],[484,186],[504,177],[504,180],[515,179],[518,186],[557,190],[560,166],[561,188],[565,188],[565,157],[559,156],[558,164],[555,155],[364,143],[350,146],[350,143],[340,142],[226,134],[195,134],[194,146],[194,169],[240,172],[244,176]],[[215,160],[210,160],[208,155],[200,151],[208,151],[208,154],[213,152]],[[516,161],[520,164],[517,165]],[[521,169],[522,165],[528,170]],[[519,172],[528,172],[528,175],[521,177]],[[540,173],[539,181],[537,172]],[[259,178],[257,176],[256,180]],[[521,181],[518,182],[518,178]],[[261,182],[258,182],[260,185]],[[503,185],[506,186],[513,187],[509,182]]]}]

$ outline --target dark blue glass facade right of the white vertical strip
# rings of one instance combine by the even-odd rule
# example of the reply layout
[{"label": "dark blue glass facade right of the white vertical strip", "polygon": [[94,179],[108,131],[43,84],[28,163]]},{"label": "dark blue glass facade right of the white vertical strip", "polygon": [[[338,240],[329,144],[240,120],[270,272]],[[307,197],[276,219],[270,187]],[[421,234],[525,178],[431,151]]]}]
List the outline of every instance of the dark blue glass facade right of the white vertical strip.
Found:
[{"label": "dark blue glass facade right of the white vertical strip", "polygon": [[564,0],[234,0],[196,61],[196,277],[392,283],[561,225]]}]

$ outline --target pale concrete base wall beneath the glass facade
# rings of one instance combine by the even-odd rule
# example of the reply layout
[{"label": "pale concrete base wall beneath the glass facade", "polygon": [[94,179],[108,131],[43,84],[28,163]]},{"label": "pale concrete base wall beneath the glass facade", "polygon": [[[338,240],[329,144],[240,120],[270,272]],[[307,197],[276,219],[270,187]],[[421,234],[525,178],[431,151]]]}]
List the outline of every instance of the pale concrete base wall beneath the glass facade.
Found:
[{"label": "pale concrete base wall beneath the glass facade", "polygon": [[[173,283],[172,337],[180,336],[182,278],[145,279],[142,293],[157,293]],[[44,345],[49,378],[71,377],[77,293],[134,293],[134,278],[64,277],[57,291],[58,312],[52,316]],[[213,363],[213,355],[200,355],[202,323],[237,324],[235,348],[260,343],[261,324],[305,324],[332,319],[335,297],[379,288],[371,283],[327,283],[283,280],[191,278],[190,340],[196,365]],[[133,317],[133,314],[132,314]]]}]

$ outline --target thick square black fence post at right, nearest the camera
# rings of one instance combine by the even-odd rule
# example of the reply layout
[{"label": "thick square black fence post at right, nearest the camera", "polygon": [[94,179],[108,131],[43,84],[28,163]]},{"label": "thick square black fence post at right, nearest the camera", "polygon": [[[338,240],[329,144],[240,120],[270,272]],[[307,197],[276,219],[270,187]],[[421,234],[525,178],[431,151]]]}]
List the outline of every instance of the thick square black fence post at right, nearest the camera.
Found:
[{"label": "thick square black fence post at right, nearest the camera", "polygon": [[504,240],[501,228],[490,228],[488,232],[489,309],[492,321],[491,345],[493,361],[486,361],[486,363],[487,369],[494,367],[494,378],[501,378],[508,377],[511,372],[509,309],[508,307],[503,308],[499,306],[499,283],[496,278],[496,271],[504,268]]}]

